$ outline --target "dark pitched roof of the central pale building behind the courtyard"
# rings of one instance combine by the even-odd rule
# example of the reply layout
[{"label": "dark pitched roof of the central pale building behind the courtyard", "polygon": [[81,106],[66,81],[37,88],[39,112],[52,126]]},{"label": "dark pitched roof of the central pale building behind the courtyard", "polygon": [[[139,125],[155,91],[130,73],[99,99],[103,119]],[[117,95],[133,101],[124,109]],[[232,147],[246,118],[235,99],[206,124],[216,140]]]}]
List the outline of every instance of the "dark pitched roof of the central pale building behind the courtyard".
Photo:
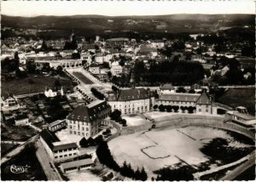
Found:
[{"label": "dark pitched roof of the central pale building behind the courtyard", "polygon": [[128,101],[148,99],[148,92],[145,88],[119,89],[115,94],[110,94],[108,101]]}]

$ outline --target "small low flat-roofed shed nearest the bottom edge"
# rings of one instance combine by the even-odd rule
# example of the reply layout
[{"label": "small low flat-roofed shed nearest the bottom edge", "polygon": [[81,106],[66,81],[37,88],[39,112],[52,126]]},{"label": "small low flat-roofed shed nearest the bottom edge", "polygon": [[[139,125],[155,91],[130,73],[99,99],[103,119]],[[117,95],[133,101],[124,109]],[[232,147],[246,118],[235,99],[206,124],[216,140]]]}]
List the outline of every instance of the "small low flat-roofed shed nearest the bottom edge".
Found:
[{"label": "small low flat-roofed shed nearest the bottom edge", "polygon": [[61,163],[61,171],[63,173],[71,173],[75,171],[81,171],[84,169],[91,168],[94,165],[94,162],[90,159],[82,159],[78,161],[73,161],[73,162],[64,162]]}]

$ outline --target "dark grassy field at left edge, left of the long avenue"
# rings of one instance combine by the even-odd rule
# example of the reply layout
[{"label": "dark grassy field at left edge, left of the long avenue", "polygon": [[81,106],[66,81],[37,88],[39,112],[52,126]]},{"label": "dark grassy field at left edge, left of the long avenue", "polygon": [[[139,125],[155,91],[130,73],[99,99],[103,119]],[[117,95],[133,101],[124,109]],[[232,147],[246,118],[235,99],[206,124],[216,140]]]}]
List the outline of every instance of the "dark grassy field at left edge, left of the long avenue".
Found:
[{"label": "dark grassy field at left edge, left of the long avenue", "polygon": [[[46,87],[54,87],[55,80],[58,78],[51,76],[29,76],[21,79],[14,79],[11,81],[3,81],[2,94],[32,94],[44,92]],[[72,87],[72,81],[67,77],[60,77],[59,81],[63,88]]]}]

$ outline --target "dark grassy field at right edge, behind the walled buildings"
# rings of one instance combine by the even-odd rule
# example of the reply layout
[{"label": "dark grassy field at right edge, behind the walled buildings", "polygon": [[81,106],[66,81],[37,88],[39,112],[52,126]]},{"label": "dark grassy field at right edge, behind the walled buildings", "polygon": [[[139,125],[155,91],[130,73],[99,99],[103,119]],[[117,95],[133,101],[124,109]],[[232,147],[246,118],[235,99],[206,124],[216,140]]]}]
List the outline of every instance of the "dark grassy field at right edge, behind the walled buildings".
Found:
[{"label": "dark grassy field at right edge, behind the walled buildings", "polygon": [[217,101],[231,107],[245,106],[255,116],[255,88],[230,88]]}]

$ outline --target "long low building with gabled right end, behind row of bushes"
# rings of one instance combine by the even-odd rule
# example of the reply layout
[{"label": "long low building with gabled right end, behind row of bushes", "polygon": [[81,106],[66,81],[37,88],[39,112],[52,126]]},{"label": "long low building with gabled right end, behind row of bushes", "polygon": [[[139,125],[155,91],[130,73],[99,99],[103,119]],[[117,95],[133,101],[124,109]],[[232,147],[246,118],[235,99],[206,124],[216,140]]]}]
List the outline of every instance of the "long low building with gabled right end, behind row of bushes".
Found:
[{"label": "long low building with gabled right end, behind row of bushes", "polygon": [[158,105],[177,105],[179,108],[192,106],[195,107],[196,113],[216,114],[216,110],[212,107],[212,101],[205,92],[202,94],[161,94]]}]

